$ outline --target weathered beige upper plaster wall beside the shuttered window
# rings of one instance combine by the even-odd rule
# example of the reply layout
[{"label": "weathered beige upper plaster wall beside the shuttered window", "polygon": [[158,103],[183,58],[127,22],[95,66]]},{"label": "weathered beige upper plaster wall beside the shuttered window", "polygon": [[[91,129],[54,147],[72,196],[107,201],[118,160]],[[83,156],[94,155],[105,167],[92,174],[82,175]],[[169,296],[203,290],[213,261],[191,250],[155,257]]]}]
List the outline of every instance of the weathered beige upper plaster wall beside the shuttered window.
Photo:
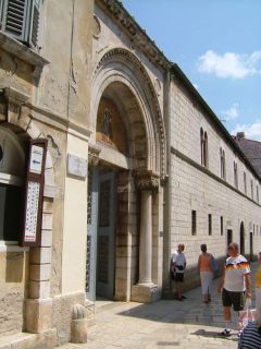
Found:
[{"label": "weathered beige upper plaster wall beside the shuttered window", "polygon": [[34,103],[87,127],[94,1],[46,1],[41,51],[45,69]]}]

